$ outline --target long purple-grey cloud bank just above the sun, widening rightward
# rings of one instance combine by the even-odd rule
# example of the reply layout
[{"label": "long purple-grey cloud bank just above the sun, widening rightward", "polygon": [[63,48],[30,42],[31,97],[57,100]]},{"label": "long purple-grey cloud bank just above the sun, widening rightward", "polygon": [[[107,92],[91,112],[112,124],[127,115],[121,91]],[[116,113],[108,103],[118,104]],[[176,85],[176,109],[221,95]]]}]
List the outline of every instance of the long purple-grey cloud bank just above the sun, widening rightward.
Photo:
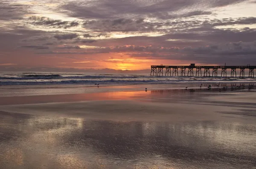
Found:
[{"label": "long purple-grey cloud bank just above the sun, widening rightward", "polygon": [[90,48],[86,51],[65,51],[65,52],[47,52],[42,54],[81,54],[81,55],[92,55],[92,54],[107,54],[107,53],[124,53],[125,55],[134,58],[144,59],[169,59],[169,60],[194,60],[198,62],[212,62],[222,63],[231,62],[232,59],[247,58],[248,60],[255,60],[256,54],[256,41],[254,42],[232,42],[232,43],[221,43],[218,45],[206,45],[199,47],[154,47],[154,46],[134,46],[134,45],[123,45],[115,47],[105,48]]}]

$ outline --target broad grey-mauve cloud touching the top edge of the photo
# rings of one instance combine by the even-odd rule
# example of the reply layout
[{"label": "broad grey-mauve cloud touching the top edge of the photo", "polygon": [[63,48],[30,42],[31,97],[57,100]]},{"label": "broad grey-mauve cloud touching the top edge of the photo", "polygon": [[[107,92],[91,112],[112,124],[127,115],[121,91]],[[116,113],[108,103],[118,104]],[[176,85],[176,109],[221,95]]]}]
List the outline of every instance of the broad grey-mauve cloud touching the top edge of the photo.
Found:
[{"label": "broad grey-mauve cloud touching the top edge of the photo", "polygon": [[[211,14],[211,12],[198,12],[197,9],[211,9],[245,1],[247,0],[149,0],[146,2],[137,0],[70,1],[64,3],[61,9],[71,17],[81,19],[116,19],[118,17],[128,16],[136,18],[141,15],[158,18],[168,16],[170,19],[173,19],[174,17],[208,15]],[[191,11],[191,6],[195,7],[194,11]],[[96,8],[97,10],[95,10]],[[185,9],[190,10],[189,13],[186,14],[187,10]],[[177,13],[177,11],[182,12],[180,12],[180,15],[169,14],[170,12]]]}]

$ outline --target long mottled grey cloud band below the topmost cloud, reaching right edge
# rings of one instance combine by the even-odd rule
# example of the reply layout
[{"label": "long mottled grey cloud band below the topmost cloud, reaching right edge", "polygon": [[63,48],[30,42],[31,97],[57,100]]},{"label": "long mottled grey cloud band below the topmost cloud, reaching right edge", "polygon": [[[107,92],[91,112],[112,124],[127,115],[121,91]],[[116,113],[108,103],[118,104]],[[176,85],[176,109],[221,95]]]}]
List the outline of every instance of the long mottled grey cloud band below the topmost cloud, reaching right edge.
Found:
[{"label": "long mottled grey cloud band below the topmost cloud, reaching right edge", "polygon": [[[193,12],[204,13],[204,11]],[[190,15],[190,13],[189,13]],[[217,26],[228,25],[253,25],[256,24],[256,17],[239,17],[239,18],[224,18],[213,20],[174,20],[174,21],[158,21],[148,22],[143,18],[139,19],[108,19],[108,20],[89,20],[83,23],[83,27],[97,32],[187,32],[188,29],[196,28],[190,31],[205,31]],[[196,32],[195,32],[196,33]],[[99,34],[98,36],[100,36]],[[97,37],[97,35],[84,34],[84,37]]]}]

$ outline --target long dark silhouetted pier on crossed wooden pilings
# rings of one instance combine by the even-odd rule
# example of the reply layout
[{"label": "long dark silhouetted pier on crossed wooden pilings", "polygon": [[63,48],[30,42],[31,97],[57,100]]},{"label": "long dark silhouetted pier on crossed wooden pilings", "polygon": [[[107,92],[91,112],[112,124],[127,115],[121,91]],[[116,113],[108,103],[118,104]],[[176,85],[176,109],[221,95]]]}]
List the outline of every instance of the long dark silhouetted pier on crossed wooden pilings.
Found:
[{"label": "long dark silhouetted pier on crossed wooden pilings", "polygon": [[[249,78],[254,78],[253,70],[256,69],[256,66],[196,66],[194,63],[190,64],[189,66],[167,66],[167,65],[151,65],[151,73],[150,75],[153,76],[179,76],[179,69],[180,69],[180,76],[202,76],[202,69],[204,70],[204,76],[211,76],[217,77],[218,76],[218,69],[221,69],[221,77],[227,77],[227,69],[231,70],[230,77],[236,77],[236,70],[240,69],[240,78],[244,78],[244,70],[249,70]],[[186,74],[186,69],[187,74]],[[212,71],[211,71],[212,70]]]}]

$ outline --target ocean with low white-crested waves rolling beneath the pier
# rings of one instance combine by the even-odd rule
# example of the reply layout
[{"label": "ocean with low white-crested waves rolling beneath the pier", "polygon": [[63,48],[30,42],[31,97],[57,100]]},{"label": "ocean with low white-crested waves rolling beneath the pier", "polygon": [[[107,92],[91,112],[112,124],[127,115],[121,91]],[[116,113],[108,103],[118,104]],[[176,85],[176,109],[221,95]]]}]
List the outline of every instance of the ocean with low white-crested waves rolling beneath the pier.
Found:
[{"label": "ocean with low white-crested waves rolling beneath the pier", "polygon": [[179,84],[179,83],[253,83],[256,78],[150,76],[149,74],[2,72],[0,85],[75,85],[75,84]]}]

